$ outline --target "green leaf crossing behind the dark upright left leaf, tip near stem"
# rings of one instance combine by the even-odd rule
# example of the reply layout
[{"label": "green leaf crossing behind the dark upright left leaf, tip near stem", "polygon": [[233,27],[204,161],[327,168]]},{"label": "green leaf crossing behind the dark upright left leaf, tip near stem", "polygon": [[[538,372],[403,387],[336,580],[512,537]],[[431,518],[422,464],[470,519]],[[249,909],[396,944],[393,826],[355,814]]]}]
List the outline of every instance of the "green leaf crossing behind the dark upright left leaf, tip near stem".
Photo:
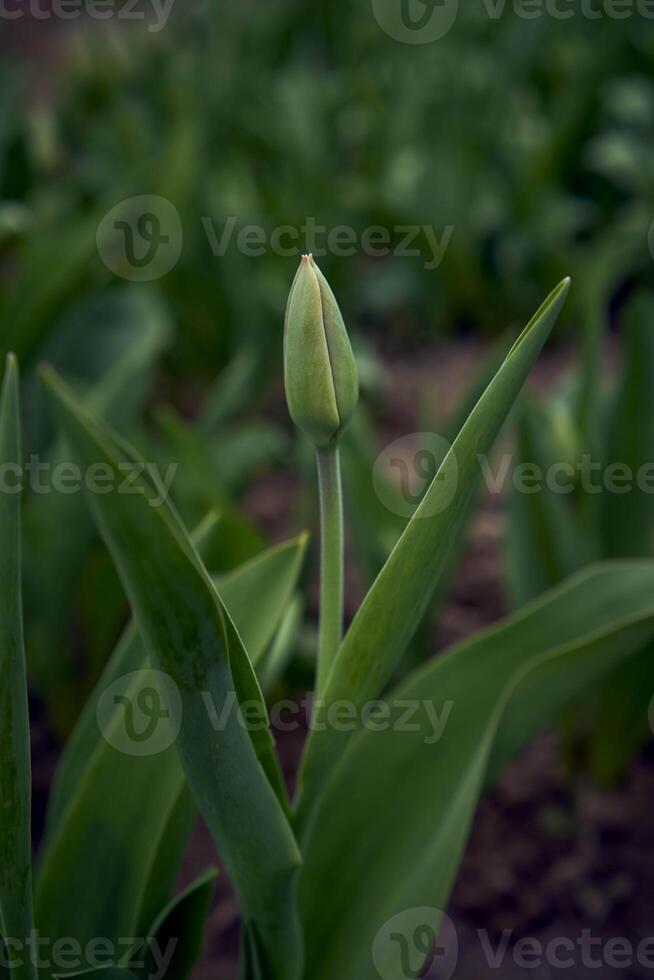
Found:
[{"label": "green leaf crossing behind the dark upright left leaf, tip near stem", "polygon": [[[199,534],[200,529],[194,537],[201,545]],[[247,649],[252,651],[255,664],[288,604],[304,547],[302,536],[270,548],[222,580],[221,595],[246,643],[250,643]],[[257,601],[261,610],[261,621],[254,628],[249,615],[252,601]],[[103,693],[119,678],[140,671],[140,684],[137,676],[129,692],[130,700],[138,703],[139,692],[152,683],[145,668],[146,653],[135,625],[131,625],[91,696],[57,770],[48,813],[49,847],[39,889],[39,894],[43,890],[48,895],[43,924],[53,934],[87,941],[103,929],[102,934],[107,934],[111,925],[114,930],[120,927],[127,929],[127,934],[142,935],[171,893],[196,814],[177,756],[173,752],[162,753],[152,763],[143,763],[139,758],[121,755],[104,741],[98,727],[98,703]],[[116,708],[117,714],[121,711]],[[139,794],[126,798],[120,787],[138,784],[146,765],[152,769],[156,806],[144,813]],[[113,804],[107,799],[112,786],[116,787]],[[102,814],[101,820],[98,814]],[[62,820],[61,833],[54,836]],[[99,834],[108,837],[114,846],[105,846],[99,852]],[[122,855],[134,837],[139,853],[125,870]],[[101,902],[80,910],[76,895],[92,888],[98,877],[111,883],[107,888],[112,895],[111,909],[107,910]],[[72,881],[76,881],[74,889]],[[107,916],[114,914],[114,905],[121,910],[121,918],[108,920]],[[50,912],[51,908],[56,913]]]}]

